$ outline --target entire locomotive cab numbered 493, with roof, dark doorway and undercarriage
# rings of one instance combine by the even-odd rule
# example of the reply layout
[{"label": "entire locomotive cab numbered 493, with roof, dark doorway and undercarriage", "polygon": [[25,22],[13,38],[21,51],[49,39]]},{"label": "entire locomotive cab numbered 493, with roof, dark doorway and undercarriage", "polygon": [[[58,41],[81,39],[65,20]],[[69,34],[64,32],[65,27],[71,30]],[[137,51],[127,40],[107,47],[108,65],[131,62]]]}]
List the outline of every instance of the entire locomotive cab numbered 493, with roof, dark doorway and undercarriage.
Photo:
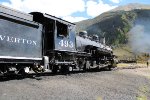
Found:
[{"label": "entire locomotive cab numbered 493, with roof, dark doorway and undercarriage", "polygon": [[74,66],[75,24],[49,14],[32,12],[33,20],[43,25],[43,56],[49,59],[53,72]]}]

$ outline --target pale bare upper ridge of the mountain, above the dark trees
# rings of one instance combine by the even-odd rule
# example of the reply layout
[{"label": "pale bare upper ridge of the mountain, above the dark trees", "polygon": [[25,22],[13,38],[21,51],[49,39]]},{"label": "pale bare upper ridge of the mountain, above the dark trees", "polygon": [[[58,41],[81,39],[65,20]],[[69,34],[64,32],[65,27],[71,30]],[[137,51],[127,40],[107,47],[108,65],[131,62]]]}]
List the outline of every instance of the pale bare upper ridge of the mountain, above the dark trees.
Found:
[{"label": "pale bare upper ridge of the mountain, above the dark trees", "polygon": [[77,31],[81,31],[81,30],[86,30],[86,28],[88,26],[91,26],[95,23],[100,22],[101,20],[104,19],[109,19],[117,14],[119,14],[120,12],[125,12],[125,11],[132,11],[132,10],[150,10],[150,5],[144,5],[144,4],[138,4],[138,3],[131,3],[128,5],[124,5],[124,6],[119,6],[117,8],[114,8],[108,12],[102,13],[99,16],[93,18],[93,19],[88,19],[88,20],[83,20],[80,22],[76,22],[77,24]]}]

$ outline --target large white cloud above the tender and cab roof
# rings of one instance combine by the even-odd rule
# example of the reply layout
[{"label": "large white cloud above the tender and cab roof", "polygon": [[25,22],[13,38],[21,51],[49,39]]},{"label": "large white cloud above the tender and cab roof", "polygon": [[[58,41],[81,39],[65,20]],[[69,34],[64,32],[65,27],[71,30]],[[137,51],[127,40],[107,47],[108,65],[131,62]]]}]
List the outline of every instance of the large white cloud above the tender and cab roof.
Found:
[{"label": "large white cloud above the tender and cab roof", "polygon": [[2,4],[27,13],[40,11],[57,17],[85,11],[84,0],[10,0]]}]

